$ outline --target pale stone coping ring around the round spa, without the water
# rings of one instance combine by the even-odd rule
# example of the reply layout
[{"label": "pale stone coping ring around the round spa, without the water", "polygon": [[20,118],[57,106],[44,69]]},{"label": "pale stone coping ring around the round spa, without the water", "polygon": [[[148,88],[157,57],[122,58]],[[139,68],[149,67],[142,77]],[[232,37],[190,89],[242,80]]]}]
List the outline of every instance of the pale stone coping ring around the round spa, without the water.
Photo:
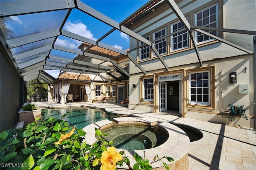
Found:
[{"label": "pale stone coping ring around the round spa, without the water", "polygon": [[[140,122],[150,123],[152,125],[157,124],[156,120],[149,120],[142,117],[118,117],[114,118],[114,121],[121,124],[126,124],[130,122],[134,122],[134,124],[137,125],[140,124]],[[86,135],[84,136],[84,141],[86,141],[86,143],[90,145],[93,144],[97,140],[95,137],[95,128],[100,129],[100,127],[106,125],[111,126],[111,123],[112,121],[105,119],[84,127],[83,130],[86,132]],[[137,153],[142,158],[148,159],[149,162],[152,162],[154,160],[156,154],[158,154],[159,158],[162,158],[163,156],[170,156],[174,159],[174,162],[169,162],[166,158],[162,159],[164,163],[168,164],[170,169],[188,169],[188,150],[190,147],[190,140],[186,133],[182,129],[175,125],[172,125],[171,123],[161,122],[158,123],[158,126],[161,126],[164,129],[166,129],[169,134],[169,138],[162,145],[152,149],[144,150],[116,149],[117,152],[124,150],[125,155],[128,156],[130,160],[130,165],[132,167],[136,163],[136,160],[134,160],[134,154]],[[153,168],[159,168],[163,166],[164,165],[161,161],[152,164]],[[128,169],[128,166],[124,165],[124,167],[118,168]]]}]

